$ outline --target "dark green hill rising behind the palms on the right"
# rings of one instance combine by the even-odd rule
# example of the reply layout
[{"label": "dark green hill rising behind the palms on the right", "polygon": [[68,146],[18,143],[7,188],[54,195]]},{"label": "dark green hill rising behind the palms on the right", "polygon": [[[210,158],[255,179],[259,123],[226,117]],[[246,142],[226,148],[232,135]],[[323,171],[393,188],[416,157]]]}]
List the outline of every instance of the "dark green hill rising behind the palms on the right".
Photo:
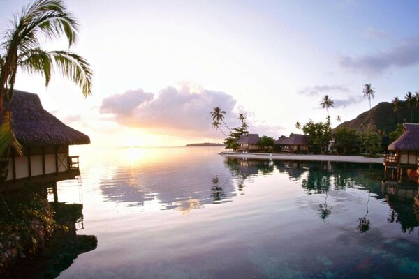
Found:
[{"label": "dark green hill rising behind the palms on the right", "polygon": [[[403,105],[403,104],[402,104]],[[400,107],[400,122],[410,122],[411,110],[407,107]],[[334,130],[340,127],[363,130],[365,126],[373,125],[378,130],[383,130],[388,135],[397,128],[398,113],[393,110],[392,103],[382,102],[372,107],[371,112],[362,112],[355,119],[339,124]],[[419,122],[419,112],[417,108],[413,109],[413,123]]]}]

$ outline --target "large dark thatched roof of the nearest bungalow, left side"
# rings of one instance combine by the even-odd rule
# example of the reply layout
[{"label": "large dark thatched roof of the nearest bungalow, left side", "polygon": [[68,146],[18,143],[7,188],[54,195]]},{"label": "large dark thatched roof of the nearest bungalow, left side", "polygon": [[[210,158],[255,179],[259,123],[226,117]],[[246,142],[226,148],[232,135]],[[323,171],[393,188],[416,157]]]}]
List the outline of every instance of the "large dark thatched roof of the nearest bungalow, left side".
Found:
[{"label": "large dark thatched roof of the nearest bungalow, left side", "polygon": [[89,144],[90,138],[43,109],[38,95],[15,90],[10,103],[13,130],[23,146]]}]

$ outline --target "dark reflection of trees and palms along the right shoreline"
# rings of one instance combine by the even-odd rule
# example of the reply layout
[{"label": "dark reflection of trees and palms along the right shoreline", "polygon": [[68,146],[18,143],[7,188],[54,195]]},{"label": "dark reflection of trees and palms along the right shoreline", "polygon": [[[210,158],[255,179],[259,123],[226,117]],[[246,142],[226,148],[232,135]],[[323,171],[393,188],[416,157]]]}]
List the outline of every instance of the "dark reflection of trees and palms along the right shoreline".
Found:
[{"label": "dark reflection of trees and palms along the right shoreline", "polygon": [[[330,191],[357,188],[365,190],[365,216],[358,218],[357,230],[365,233],[371,227],[369,199],[382,199],[390,206],[388,223],[399,223],[402,232],[414,232],[419,226],[418,186],[415,184],[385,184],[381,181],[383,167],[378,164],[339,163],[339,162],[304,162],[293,160],[242,160],[226,158],[226,166],[235,177],[242,179],[249,176],[272,174],[273,167],[280,174],[288,175],[291,181],[300,183],[307,195],[325,195],[324,202],[318,204],[317,211],[321,220],[332,214],[328,204]],[[272,167],[271,167],[272,166]],[[239,190],[243,190],[239,188]],[[414,202],[414,200],[418,202]]]}]

